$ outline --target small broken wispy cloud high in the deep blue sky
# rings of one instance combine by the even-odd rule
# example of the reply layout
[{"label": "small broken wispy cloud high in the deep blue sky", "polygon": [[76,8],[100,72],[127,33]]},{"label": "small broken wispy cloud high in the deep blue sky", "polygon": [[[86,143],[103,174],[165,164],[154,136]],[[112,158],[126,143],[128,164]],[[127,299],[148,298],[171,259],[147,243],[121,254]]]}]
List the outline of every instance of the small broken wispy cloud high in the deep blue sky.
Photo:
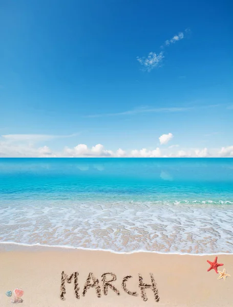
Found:
[{"label": "small broken wispy cloud high in the deep blue sky", "polygon": [[[187,31],[187,29],[185,31]],[[174,35],[171,39],[167,39],[164,45],[160,46],[160,48],[163,49],[164,47],[169,46],[172,43],[175,43],[176,41],[181,40],[183,38],[184,38],[184,33],[180,32],[179,34]],[[141,65],[143,65],[142,71],[146,72],[150,72],[154,68],[159,67],[163,58],[164,58],[163,51],[159,53],[150,52],[149,55],[147,55],[147,57],[137,56],[137,60]]]}]

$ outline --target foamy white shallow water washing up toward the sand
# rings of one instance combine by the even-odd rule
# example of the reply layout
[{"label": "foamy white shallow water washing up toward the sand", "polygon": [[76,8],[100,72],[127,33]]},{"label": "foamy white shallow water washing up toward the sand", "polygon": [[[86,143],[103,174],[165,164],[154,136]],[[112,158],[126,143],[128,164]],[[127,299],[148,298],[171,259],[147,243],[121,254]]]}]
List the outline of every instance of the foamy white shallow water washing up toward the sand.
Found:
[{"label": "foamy white shallow water washing up toward the sand", "polygon": [[233,253],[228,201],[0,203],[0,242],[114,252]]}]

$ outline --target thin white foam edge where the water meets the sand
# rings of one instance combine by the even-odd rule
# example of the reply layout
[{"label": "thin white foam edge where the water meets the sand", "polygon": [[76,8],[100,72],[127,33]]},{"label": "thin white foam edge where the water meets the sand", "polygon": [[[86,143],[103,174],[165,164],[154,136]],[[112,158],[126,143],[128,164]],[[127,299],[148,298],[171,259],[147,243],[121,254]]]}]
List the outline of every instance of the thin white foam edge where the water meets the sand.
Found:
[{"label": "thin white foam edge where the water meets the sand", "polygon": [[[91,249],[91,248],[84,248],[84,247],[72,247],[72,246],[59,246],[59,245],[41,245],[41,244],[26,244],[26,243],[17,243],[17,242],[0,242],[0,253],[5,252],[6,248],[4,246],[10,246],[11,251],[14,251],[18,248],[18,250],[24,250],[24,249],[31,249],[31,251],[41,249],[41,251],[49,249],[49,250],[76,250],[76,251],[97,251],[97,252],[109,252],[112,254],[117,255],[133,255],[138,253],[152,253],[152,254],[159,254],[159,255],[179,255],[179,256],[219,256],[219,255],[233,255],[233,253],[174,253],[174,252],[158,252],[158,251],[147,251],[147,250],[137,250],[132,252],[117,252],[114,250],[108,250],[108,249]],[[15,248],[14,248],[15,247]]]}]

